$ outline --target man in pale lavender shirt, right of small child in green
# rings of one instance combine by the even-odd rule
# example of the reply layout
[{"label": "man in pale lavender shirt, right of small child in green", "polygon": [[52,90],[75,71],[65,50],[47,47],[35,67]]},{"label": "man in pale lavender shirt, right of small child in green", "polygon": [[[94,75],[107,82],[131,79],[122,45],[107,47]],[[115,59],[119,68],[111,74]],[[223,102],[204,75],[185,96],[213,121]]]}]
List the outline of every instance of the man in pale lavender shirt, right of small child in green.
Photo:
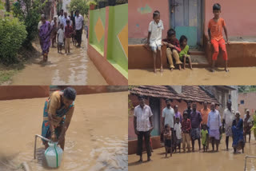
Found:
[{"label": "man in pale lavender shirt, right of small child in green", "polygon": [[209,137],[211,139],[211,145],[214,151],[214,143],[216,143],[216,151],[218,151],[218,143],[220,139],[221,133],[221,116],[216,108],[215,103],[211,103],[210,105],[210,113],[208,115],[207,126],[209,127]]}]

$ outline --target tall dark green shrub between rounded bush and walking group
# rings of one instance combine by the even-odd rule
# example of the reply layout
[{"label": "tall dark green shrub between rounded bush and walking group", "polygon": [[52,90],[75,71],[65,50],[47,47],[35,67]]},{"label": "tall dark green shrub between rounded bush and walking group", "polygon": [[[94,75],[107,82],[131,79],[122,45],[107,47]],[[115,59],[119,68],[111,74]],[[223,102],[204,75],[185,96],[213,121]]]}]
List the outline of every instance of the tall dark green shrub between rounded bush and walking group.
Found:
[{"label": "tall dark green shrub between rounded bush and walking group", "polygon": [[31,46],[31,41],[38,34],[40,14],[43,13],[43,8],[47,2],[47,0],[43,3],[40,0],[34,0],[33,2],[32,0],[18,0],[14,3],[12,7],[14,17],[24,22],[28,33],[23,46]]}]

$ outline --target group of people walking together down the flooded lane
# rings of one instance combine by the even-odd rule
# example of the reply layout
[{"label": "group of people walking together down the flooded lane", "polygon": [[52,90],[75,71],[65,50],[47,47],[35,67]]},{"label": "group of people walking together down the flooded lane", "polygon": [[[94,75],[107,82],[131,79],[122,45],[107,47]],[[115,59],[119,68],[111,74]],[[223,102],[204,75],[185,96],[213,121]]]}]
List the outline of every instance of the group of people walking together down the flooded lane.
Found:
[{"label": "group of people walking together down the flooded lane", "polygon": [[[54,43],[58,43],[58,53],[62,54],[62,46],[65,45],[65,53],[70,54],[70,40],[74,46],[81,47],[82,29],[84,19],[79,11],[75,14],[71,11],[70,16],[63,10],[60,15],[55,16],[52,22],[46,21],[46,15],[41,15],[41,21],[38,23],[39,41],[42,48],[43,61],[46,62],[50,50],[50,45],[54,48]],[[51,43],[50,43],[51,41]]]}]

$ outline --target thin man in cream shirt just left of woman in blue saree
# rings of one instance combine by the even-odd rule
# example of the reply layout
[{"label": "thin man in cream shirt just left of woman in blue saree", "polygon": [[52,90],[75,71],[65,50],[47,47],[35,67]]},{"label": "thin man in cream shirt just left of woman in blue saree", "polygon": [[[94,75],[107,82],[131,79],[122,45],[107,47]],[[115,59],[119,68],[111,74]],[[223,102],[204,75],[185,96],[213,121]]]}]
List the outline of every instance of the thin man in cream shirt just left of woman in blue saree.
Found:
[{"label": "thin man in cream shirt just left of woman in blue saree", "polygon": [[234,109],[231,109],[232,102],[227,101],[227,109],[224,109],[222,118],[222,127],[225,129],[226,134],[226,151],[229,150],[229,138],[232,137],[232,123],[234,121]]}]

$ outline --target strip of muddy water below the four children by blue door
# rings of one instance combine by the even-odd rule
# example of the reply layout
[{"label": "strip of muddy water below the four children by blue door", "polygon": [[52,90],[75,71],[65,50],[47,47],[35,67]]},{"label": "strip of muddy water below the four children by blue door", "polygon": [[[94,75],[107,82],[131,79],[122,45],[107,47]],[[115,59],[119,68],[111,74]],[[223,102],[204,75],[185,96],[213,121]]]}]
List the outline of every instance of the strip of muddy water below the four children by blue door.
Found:
[{"label": "strip of muddy water below the four children by blue door", "polygon": [[154,74],[153,70],[129,70],[129,85],[254,85],[256,67],[229,68],[226,73],[219,68],[214,73],[208,69],[164,70]]}]

